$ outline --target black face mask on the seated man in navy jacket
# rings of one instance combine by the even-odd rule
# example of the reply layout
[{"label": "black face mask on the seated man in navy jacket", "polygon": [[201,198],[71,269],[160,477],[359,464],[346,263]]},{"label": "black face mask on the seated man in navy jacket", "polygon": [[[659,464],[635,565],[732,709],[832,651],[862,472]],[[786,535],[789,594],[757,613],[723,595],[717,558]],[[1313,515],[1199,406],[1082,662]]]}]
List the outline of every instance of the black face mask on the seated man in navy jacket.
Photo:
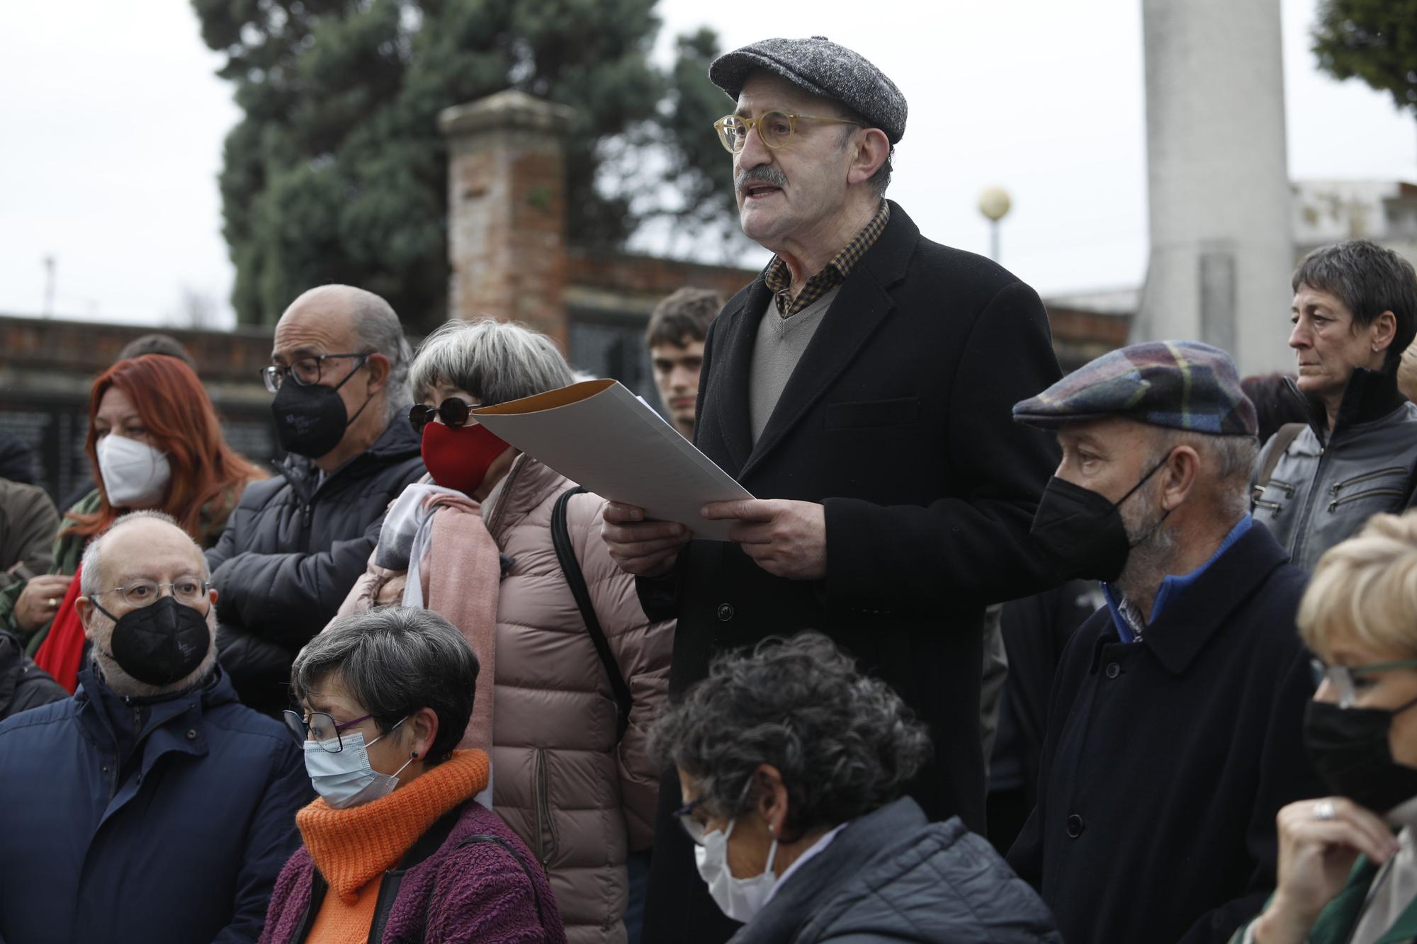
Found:
[{"label": "black face mask on the seated man in navy jacket", "polygon": [[147,685],[171,685],[201,665],[211,648],[207,617],[171,597],[125,612],[122,618],[103,607],[94,608],[113,621],[109,641],[118,668]]}]

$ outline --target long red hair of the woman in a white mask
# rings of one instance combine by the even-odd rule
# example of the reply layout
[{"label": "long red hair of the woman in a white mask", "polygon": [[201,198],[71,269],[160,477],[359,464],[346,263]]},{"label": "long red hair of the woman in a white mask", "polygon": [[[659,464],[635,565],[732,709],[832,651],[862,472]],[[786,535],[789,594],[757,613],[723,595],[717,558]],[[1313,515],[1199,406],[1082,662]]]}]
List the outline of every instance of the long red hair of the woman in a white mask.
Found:
[{"label": "long red hair of the woman in a white mask", "polygon": [[133,401],[149,441],[167,454],[171,465],[171,478],[163,489],[157,510],[171,515],[193,540],[201,543],[203,510],[213,522],[225,520],[247,482],[264,479],[266,473],[227,445],[217,411],[197,374],[183,361],[166,354],[120,360],[94,381],[84,451],[94,465],[102,503],[92,515],[71,513],[68,517],[74,524],[68,532],[96,534],[119,515],[109,505],[103,476],[98,472],[98,431],[94,427],[103,395],[113,387]]}]

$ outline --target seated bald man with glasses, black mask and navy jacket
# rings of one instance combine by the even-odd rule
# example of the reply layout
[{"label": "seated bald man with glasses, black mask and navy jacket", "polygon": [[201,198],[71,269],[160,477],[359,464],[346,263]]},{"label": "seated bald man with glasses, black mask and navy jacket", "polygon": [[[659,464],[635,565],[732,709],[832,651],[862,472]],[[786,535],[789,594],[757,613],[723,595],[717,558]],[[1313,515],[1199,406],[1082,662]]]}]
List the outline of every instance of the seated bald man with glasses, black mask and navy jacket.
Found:
[{"label": "seated bald man with glasses, black mask and navy jacket", "polygon": [[201,549],[160,512],[84,554],[71,699],[0,723],[0,940],[255,941],[309,801],[217,665]]}]

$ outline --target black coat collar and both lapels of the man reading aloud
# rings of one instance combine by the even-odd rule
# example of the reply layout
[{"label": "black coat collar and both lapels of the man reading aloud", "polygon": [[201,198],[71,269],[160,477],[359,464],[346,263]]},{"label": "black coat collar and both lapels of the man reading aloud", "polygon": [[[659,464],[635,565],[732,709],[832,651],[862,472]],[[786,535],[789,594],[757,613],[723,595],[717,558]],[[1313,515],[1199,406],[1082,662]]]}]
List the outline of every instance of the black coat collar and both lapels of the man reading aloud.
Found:
[{"label": "black coat collar and both lapels of the man reading aloud", "polygon": [[802,360],[784,387],[757,445],[752,444],[748,421],[748,384],[758,323],[772,299],[762,274],[738,293],[735,305],[724,310],[720,320],[726,335],[727,370],[714,395],[721,408],[720,428],[728,452],[728,473],[741,481],[752,472],[860,352],[894,308],[888,289],[905,278],[918,242],[920,228],[893,201],[886,230],[842,282],[836,300],[802,352]]}]

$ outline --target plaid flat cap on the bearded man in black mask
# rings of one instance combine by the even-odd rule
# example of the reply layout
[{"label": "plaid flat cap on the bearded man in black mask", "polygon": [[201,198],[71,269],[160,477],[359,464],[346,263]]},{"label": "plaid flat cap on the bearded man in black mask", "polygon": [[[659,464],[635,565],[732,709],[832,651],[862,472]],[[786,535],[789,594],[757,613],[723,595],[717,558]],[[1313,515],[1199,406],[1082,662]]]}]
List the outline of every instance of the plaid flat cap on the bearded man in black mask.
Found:
[{"label": "plaid flat cap on the bearded man in black mask", "polygon": [[1253,437],[1260,431],[1230,354],[1200,342],[1122,347],[1013,404],[1015,421],[1032,427],[1101,417],[1212,435]]}]

